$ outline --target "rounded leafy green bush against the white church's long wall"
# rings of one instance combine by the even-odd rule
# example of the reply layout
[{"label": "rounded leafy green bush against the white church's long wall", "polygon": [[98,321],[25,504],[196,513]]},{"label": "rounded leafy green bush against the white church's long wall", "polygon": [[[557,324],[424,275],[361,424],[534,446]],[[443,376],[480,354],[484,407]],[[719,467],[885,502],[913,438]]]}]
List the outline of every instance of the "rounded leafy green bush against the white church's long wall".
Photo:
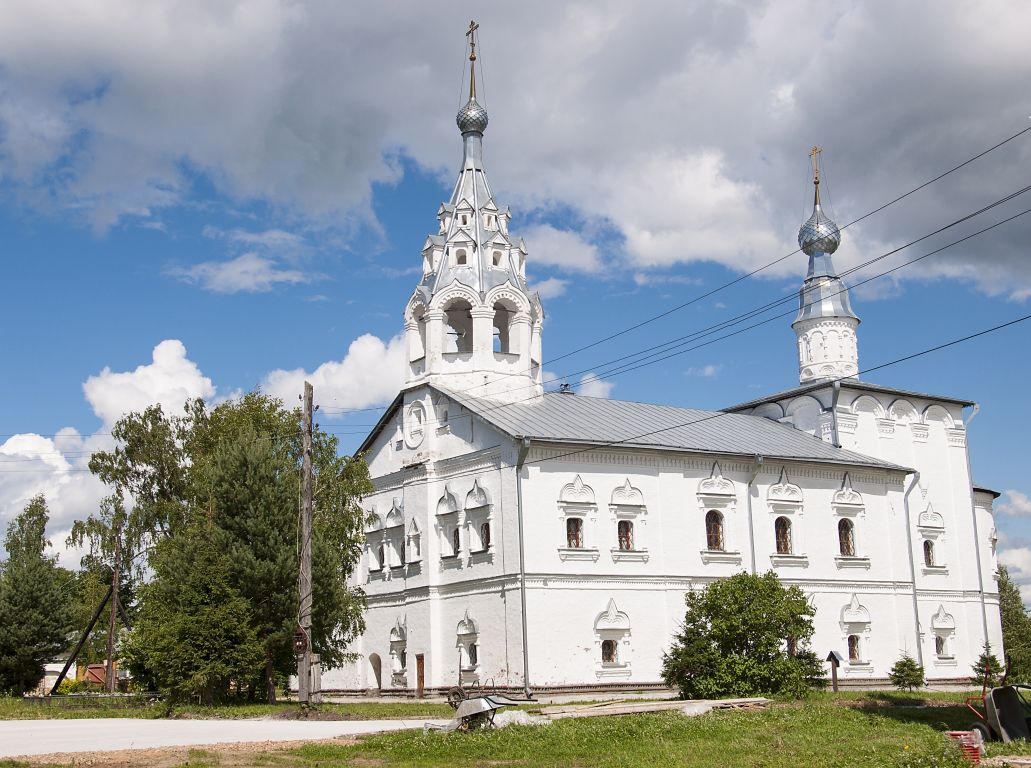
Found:
[{"label": "rounded leafy green bush against the white church's long wall", "polygon": [[803,697],[823,684],[808,649],[813,607],[772,571],[739,573],[685,598],[687,614],[663,656],[663,679],[687,699]]}]

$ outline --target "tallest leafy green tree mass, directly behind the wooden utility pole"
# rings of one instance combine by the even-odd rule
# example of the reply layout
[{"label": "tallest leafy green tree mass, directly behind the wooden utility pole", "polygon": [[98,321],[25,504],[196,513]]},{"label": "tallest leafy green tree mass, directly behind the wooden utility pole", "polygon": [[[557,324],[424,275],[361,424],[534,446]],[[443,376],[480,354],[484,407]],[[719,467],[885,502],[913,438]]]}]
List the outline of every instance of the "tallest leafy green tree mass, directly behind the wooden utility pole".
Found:
[{"label": "tallest leafy green tree mass, directly behind the wooden utility pole", "polygon": [[[261,683],[269,700],[294,668],[299,422],[299,409],[262,393],[211,409],[195,400],[178,416],[155,406],[120,421],[118,448],[91,460],[98,476],[135,500],[125,526],[138,536],[132,543],[149,543],[136,549],[140,564],[157,557],[164,539],[210,517],[230,561],[229,582],[250,604],[250,626],[264,650],[248,689]],[[372,490],[365,461],[340,457],[337,447],[334,436],[315,430],[311,639],[330,667],[345,659],[346,644],[364,627],[364,594],[346,579],[361,556],[361,497]]]}]

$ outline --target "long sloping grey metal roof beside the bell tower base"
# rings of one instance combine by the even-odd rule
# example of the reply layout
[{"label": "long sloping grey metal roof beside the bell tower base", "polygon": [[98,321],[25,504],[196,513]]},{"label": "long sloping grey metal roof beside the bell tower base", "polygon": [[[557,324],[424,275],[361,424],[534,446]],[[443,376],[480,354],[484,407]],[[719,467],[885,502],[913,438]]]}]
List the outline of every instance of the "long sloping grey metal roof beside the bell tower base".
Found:
[{"label": "long sloping grey metal roof beside the bell tower base", "polygon": [[905,471],[897,464],[836,448],[794,427],[760,416],[559,393],[502,404],[435,389],[516,438],[747,457],[758,454],[771,459]]}]

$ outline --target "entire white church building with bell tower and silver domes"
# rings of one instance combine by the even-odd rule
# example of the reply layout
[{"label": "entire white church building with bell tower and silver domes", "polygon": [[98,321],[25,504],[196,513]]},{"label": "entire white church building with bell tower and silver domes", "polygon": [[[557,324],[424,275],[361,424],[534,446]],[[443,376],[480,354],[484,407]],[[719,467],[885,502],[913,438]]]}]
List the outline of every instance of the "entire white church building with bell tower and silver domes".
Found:
[{"label": "entire white church building with bell tower and silver domes", "polygon": [[802,589],[812,649],[838,652],[846,683],[903,652],[930,681],[968,677],[986,639],[1001,653],[977,406],[859,380],[819,173],[797,388],[723,411],[544,392],[543,311],[487,180],[470,59],[462,167],[404,309],[407,381],[360,448],[367,628],[325,688],[660,684],[685,594],[741,571]]}]

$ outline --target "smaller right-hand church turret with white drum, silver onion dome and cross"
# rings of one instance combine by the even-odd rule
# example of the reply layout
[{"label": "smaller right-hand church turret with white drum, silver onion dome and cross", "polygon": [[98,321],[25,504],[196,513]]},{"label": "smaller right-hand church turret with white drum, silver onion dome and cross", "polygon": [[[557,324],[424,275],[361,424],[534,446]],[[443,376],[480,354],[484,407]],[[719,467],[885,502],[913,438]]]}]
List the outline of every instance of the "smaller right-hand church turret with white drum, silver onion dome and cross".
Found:
[{"label": "smaller right-hand church turret with white drum, silver onion dome and cross", "polygon": [[813,146],[812,215],[798,231],[798,245],[809,257],[809,269],[798,292],[798,315],[791,327],[798,337],[799,383],[859,375],[856,329],[849,290],[838,277],[831,256],[841,242],[837,225],[820,203],[820,153]]}]

